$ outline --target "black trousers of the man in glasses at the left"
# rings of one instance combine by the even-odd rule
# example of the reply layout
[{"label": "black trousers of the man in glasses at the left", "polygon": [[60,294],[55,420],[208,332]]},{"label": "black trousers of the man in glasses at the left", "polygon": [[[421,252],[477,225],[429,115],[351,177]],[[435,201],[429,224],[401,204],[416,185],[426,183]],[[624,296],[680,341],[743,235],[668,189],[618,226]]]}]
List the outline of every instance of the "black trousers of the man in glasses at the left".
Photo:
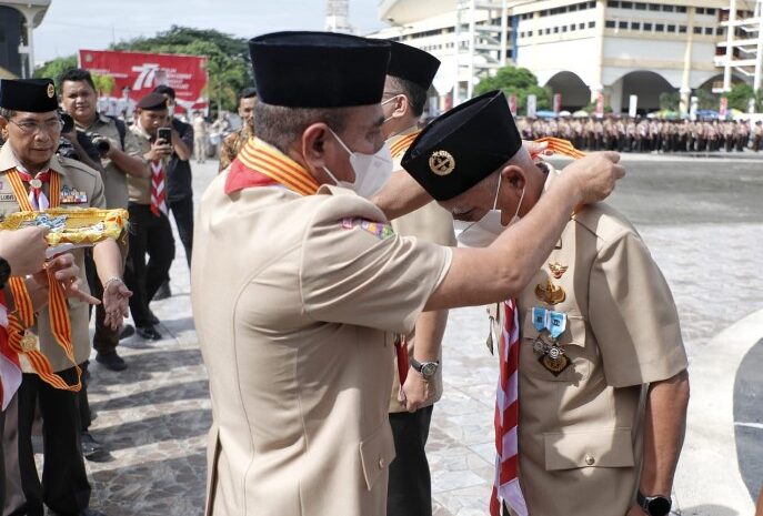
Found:
[{"label": "black trousers of the man in glasses at the left", "polygon": [[[67,383],[77,381],[74,368],[58,373]],[[40,402],[44,463],[42,484],[32,449],[34,408]],[[3,516],[42,516],[43,503],[61,515],[88,508],[90,484],[80,447],[77,394],[51,387],[36,374],[24,374],[6,414],[2,447],[6,463]]]}]

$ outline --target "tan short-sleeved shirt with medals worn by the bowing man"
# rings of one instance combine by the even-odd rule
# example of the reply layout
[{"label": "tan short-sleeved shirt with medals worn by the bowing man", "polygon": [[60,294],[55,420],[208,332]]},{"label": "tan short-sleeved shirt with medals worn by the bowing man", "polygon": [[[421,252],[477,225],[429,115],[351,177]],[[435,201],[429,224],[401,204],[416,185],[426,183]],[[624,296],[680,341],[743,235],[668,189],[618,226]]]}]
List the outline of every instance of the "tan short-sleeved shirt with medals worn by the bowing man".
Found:
[{"label": "tan short-sleeved shirt with medals worn by the bowing man", "polygon": [[[641,472],[645,386],[686,368],[662,273],[635,229],[596,203],[573,215],[516,301],[519,472],[530,514],[624,515]],[[566,314],[559,344],[570,364],[559,374],[533,350],[548,335],[534,307]]]}]

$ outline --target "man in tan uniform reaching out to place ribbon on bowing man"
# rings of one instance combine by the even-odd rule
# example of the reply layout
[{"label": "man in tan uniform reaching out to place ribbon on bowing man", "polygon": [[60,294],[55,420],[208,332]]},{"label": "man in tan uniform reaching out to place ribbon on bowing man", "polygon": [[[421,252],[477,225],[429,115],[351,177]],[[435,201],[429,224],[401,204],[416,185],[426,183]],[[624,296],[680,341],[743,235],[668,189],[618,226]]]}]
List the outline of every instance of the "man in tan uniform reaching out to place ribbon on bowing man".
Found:
[{"label": "man in tan uniform reaching out to place ribbon on bowing man", "polygon": [[373,196],[392,172],[389,43],[281,32],[250,52],[257,138],[203,195],[191,270],[213,412],[207,514],[383,516],[393,334],[422,310],[519,292],[564,213],[623,171],[613,155],[572,165],[488,250],[401,237],[357,194]]}]

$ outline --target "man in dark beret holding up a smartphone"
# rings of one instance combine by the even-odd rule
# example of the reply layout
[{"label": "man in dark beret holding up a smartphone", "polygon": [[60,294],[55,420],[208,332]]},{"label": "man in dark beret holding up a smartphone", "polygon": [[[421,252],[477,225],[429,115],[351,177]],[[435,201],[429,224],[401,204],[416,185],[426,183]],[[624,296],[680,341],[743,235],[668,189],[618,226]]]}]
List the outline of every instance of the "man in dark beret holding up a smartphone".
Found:
[{"label": "man in dark beret holding up a smartphone", "polygon": [[149,303],[169,277],[170,265],[174,260],[174,240],[165,199],[165,170],[170,155],[178,152],[182,142],[167,127],[168,108],[164,95],[149,93],[143,97],[135,107],[135,123],[130,128],[140,143],[135,155],[143,160],[150,173],[147,178],[128,178],[128,211],[132,230],[124,281],[133,292],[130,312],[138,335],[159,341],[162,338],[155,328],[159,320],[149,308]]}]

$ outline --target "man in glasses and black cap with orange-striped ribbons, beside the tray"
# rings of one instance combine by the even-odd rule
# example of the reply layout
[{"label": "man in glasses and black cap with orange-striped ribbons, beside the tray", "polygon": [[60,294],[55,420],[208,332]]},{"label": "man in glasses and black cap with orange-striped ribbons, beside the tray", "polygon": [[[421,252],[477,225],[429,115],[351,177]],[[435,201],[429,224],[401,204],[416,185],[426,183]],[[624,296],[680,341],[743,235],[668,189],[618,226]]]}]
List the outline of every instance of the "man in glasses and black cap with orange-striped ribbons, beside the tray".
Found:
[{"label": "man in glasses and black cap with orange-striped ribbons, beside the tray", "polygon": [[[7,141],[0,150],[0,192],[4,192],[0,195],[0,215],[48,206],[106,208],[100,173],[79,161],[54,154],[62,125],[52,80],[0,81],[0,131]],[[19,324],[26,326],[21,348],[36,353],[34,360],[21,355],[24,374],[7,414],[3,435],[7,474],[3,514],[7,515],[41,515],[43,504],[50,514],[90,513],[90,484],[80,448],[77,386],[80,364],[90,356],[88,303],[98,300],[87,295],[83,251],[76,250],[72,254],[83,284],[79,299],[63,306],[46,307],[33,321],[24,320],[21,310],[13,315],[21,317]],[[93,260],[103,285],[104,322],[118,330],[127,316],[131,294],[121,280],[119,245],[112,239],[96,244]],[[17,308],[23,306],[23,300],[34,304],[34,295],[33,291],[16,285]],[[71,343],[61,342],[66,337],[61,336],[59,324],[64,317],[70,322]],[[64,345],[71,345],[71,355],[64,352]],[[46,365],[40,368],[40,364]],[[53,375],[46,374],[43,380],[39,374],[48,368]],[[44,453],[42,484],[31,436],[38,404]]]}]

